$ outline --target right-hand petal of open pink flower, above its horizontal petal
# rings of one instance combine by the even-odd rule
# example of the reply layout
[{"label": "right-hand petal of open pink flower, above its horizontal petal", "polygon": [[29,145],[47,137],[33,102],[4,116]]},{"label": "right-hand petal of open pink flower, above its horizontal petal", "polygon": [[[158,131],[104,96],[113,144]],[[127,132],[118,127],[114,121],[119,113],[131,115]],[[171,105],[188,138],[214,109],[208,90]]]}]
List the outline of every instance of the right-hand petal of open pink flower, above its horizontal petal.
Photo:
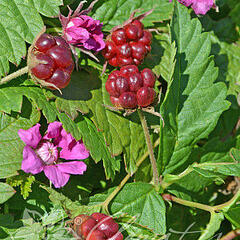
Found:
[{"label": "right-hand petal of open pink flower, above its horizontal petal", "polygon": [[89,157],[89,151],[81,141],[73,140],[67,147],[60,151],[60,158],[66,160],[85,159]]}]

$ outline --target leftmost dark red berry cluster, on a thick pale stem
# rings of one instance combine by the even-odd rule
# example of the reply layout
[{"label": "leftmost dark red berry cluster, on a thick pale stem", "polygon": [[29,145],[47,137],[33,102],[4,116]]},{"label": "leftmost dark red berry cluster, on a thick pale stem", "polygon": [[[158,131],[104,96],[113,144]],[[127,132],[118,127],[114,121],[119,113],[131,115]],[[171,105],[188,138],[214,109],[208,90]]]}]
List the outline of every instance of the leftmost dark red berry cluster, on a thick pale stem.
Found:
[{"label": "leftmost dark red berry cluster, on a thick pale stem", "polygon": [[31,51],[30,62],[30,73],[37,80],[51,83],[57,88],[69,84],[74,63],[69,45],[62,37],[42,34]]}]

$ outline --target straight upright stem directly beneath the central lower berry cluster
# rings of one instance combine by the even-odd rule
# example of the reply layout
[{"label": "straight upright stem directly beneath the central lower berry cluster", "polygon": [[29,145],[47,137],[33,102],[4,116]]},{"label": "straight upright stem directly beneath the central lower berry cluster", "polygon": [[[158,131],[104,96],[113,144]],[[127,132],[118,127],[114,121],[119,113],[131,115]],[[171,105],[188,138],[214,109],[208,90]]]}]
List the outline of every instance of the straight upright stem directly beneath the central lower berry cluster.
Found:
[{"label": "straight upright stem directly beneath the central lower berry cluster", "polygon": [[142,124],[143,132],[144,132],[147,147],[148,147],[150,162],[151,162],[152,170],[153,170],[153,181],[154,181],[154,184],[156,186],[158,186],[159,185],[159,175],[158,175],[158,169],[157,169],[157,162],[156,162],[154,152],[153,152],[153,146],[152,146],[150,134],[148,131],[147,121],[146,121],[144,113],[142,112],[141,109],[138,109],[138,116],[139,116],[141,124]]}]

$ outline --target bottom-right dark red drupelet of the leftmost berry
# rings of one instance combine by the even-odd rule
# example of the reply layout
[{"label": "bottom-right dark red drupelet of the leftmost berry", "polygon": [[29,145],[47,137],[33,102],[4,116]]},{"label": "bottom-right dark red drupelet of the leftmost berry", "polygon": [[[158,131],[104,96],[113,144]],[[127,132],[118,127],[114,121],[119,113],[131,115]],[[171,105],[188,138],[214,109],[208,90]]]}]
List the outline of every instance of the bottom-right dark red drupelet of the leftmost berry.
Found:
[{"label": "bottom-right dark red drupelet of the leftmost berry", "polygon": [[[47,79],[47,82],[54,84],[58,88],[65,88],[71,80],[71,76],[68,72],[63,71],[60,68],[57,68],[53,75]],[[53,87],[49,87],[54,89]]]}]

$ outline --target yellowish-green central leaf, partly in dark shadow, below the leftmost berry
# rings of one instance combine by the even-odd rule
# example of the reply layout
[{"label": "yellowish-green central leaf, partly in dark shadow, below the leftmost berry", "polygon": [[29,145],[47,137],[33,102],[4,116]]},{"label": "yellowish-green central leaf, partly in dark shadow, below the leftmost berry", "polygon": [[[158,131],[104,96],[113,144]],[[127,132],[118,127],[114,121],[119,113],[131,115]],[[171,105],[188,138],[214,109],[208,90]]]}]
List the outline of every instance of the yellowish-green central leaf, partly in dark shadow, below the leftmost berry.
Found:
[{"label": "yellowish-green central leaf, partly in dark shadow, below the leftmost berry", "polygon": [[[134,113],[130,117],[124,117],[120,112],[107,109],[104,105],[112,106],[109,94],[105,90],[107,76],[104,75],[100,79],[98,70],[86,70],[88,72],[83,70],[73,73],[71,83],[62,90],[62,96],[55,93],[56,106],[59,111],[64,111],[72,118],[76,116],[77,111],[84,112],[87,107],[92,115],[91,120],[98,131],[103,133],[111,155],[117,156],[123,152],[126,168],[133,172],[136,169],[136,161],[146,151],[144,133],[138,116]],[[70,101],[68,106],[66,101]],[[81,109],[82,106],[84,109]]]}]

